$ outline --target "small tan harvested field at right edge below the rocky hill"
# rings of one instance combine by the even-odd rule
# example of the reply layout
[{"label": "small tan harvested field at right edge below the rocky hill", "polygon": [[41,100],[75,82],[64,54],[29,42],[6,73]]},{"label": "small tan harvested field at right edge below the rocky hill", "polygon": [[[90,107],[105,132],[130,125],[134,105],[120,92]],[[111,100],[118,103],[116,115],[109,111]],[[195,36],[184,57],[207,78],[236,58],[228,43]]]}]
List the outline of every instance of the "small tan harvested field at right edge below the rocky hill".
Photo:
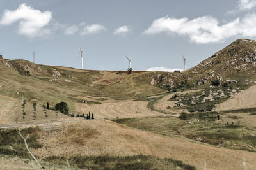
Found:
[{"label": "small tan harvested field at right edge below the rocky hill", "polygon": [[217,104],[216,111],[256,107],[256,85]]}]

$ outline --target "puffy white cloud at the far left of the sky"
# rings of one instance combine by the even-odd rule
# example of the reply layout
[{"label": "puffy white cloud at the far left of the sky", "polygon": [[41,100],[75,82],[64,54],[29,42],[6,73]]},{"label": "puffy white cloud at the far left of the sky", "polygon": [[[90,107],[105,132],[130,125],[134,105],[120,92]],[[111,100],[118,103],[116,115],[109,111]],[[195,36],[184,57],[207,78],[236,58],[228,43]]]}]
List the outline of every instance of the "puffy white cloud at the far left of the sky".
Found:
[{"label": "puffy white cloud at the far left of the sky", "polygon": [[1,18],[1,25],[12,25],[19,22],[19,34],[34,37],[51,34],[50,29],[45,26],[52,20],[51,11],[35,10],[26,4],[20,4],[17,10],[5,10]]}]

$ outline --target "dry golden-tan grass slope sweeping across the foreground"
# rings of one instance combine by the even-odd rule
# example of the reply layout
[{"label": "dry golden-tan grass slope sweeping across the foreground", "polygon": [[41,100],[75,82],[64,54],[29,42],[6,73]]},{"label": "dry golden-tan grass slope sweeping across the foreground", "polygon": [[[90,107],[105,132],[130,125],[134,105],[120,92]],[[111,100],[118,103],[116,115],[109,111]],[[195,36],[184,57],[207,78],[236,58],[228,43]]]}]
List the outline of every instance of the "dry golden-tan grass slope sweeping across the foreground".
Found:
[{"label": "dry golden-tan grass slope sweeping across the foreground", "polygon": [[[93,135],[90,135],[90,131]],[[63,124],[57,131],[40,132],[42,148],[33,152],[50,155],[156,155],[182,160],[204,169],[255,169],[256,153],[229,150],[186,139],[176,139],[132,129],[108,120],[83,120]]]}]

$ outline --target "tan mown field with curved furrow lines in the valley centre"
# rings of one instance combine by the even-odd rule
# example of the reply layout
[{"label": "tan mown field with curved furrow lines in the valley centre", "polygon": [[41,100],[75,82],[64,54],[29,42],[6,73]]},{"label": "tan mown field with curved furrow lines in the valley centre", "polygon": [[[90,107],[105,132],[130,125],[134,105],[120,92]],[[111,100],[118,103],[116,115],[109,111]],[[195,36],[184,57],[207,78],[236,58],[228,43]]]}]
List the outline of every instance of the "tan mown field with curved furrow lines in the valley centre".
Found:
[{"label": "tan mown field with curved furrow lines in the valley centre", "polygon": [[102,101],[102,104],[76,104],[76,110],[87,114],[89,111],[95,114],[95,118],[131,118],[163,115],[147,108],[147,101]]}]

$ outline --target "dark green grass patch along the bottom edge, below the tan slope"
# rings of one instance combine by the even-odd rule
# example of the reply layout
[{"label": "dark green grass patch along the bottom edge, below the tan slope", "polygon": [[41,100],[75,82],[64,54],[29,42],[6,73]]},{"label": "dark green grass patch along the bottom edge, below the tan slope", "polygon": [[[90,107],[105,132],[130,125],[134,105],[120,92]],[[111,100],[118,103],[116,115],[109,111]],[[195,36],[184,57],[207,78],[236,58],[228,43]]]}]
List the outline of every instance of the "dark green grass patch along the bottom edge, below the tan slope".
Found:
[{"label": "dark green grass patch along the bottom edge, below the tan slope", "polygon": [[184,164],[173,159],[159,159],[158,157],[134,155],[134,156],[77,156],[77,157],[46,157],[44,161],[63,166],[68,160],[71,167],[79,169],[195,169],[194,166]]}]

